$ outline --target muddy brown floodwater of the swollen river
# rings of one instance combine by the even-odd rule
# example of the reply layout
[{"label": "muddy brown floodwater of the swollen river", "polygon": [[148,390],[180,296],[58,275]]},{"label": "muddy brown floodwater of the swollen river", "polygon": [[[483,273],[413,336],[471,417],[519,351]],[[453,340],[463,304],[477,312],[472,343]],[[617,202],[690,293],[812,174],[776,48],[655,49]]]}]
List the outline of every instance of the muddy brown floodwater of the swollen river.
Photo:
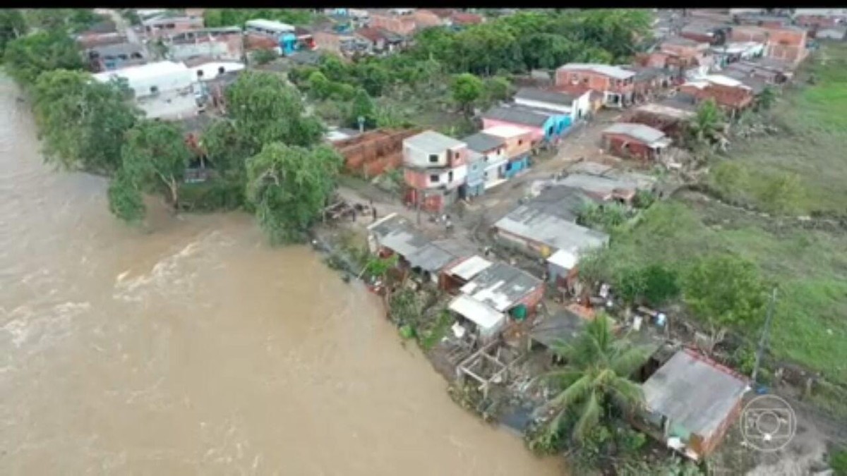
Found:
[{"label": "muddy brown floodwater of the swollen river", "polygon": [[239,213],[119,224],[17,96],[0,80],[0,474],[561,473],[311,250]]}]

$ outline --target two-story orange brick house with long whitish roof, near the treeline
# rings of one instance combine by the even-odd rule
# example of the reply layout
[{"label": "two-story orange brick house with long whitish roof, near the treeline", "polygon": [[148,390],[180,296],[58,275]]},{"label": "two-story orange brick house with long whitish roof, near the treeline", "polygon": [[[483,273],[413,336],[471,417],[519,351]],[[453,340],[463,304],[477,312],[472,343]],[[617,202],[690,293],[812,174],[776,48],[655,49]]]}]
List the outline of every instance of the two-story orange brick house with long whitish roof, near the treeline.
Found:
[{"label": "two-story orange brick house with long whitish roof, near the treeline", "polygon": [[624,108],[633,101],[635,73],[608,64],[569,63],[556,69],[556,86],[584,85],[603,93],[607,108]]}]

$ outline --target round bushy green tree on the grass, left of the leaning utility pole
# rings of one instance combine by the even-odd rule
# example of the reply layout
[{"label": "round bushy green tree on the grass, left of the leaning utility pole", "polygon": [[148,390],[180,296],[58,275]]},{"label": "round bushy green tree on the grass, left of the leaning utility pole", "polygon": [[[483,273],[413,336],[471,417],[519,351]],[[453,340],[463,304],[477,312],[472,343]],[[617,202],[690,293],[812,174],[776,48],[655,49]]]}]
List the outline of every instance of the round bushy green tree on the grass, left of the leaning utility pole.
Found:
[{"label": "round bushy green tree on the grass, left of the leaning utility pole", "polygon": [[734,256],[700,257],[684,274],[683,300],[717,328],[750,328],[763,317],[765,285],[756,265]]}]

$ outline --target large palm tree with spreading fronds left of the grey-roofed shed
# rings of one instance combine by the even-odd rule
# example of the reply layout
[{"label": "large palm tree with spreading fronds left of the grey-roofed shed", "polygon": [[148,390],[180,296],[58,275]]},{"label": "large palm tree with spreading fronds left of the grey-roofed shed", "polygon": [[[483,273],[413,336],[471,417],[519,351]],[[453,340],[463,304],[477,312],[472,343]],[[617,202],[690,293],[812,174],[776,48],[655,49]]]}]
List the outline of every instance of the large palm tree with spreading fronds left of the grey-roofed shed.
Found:
[{"label": "large palm tree with spreading fronds left of the grey-roofed shed", "polygon": [[576,418],[571,436],[582,441],[597,424],[611,417],[613,407],[628,411],[643,404],[641,387],[629,375],[648,355],[628,339],[616,338],[606,314],[598,314],[572,343],[560,342],[552,348],[566,365],[539,377],[556,381],[562,388],[536,411],[549,418],[540,439],[556,440],[570,413]]}]

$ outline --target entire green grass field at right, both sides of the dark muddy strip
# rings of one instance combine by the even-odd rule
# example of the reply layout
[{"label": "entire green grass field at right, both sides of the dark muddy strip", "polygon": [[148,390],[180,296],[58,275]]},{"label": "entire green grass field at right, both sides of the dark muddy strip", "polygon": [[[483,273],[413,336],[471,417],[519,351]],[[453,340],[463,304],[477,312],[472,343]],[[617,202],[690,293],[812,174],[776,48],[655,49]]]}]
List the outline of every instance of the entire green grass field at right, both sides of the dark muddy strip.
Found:
[{"label": "entire green grass field at right, both sides of the dark muddy strip", "polygon": [[[768,180],[789,174],[789,185],[800,189],[791,197],[796,213],[847,212],[847,47],[827,47],[822,54],[825,62],[819,56],[807,66],[817,85],[785,91],[772,111],[788,135],[736,144],[722,160],[744,173],[724,174],[728,183],[718,185],[768,209],[762,201],[769,197],[761,191]],[[610,252],[618,260],[675,267],[703,253],[750,259],[780,289],[773,355],[847,385],[843,231],[805,230],[792,220],[765,219],[716,202],[674,200],[656,204],[633,229],[616,235]]]}]

